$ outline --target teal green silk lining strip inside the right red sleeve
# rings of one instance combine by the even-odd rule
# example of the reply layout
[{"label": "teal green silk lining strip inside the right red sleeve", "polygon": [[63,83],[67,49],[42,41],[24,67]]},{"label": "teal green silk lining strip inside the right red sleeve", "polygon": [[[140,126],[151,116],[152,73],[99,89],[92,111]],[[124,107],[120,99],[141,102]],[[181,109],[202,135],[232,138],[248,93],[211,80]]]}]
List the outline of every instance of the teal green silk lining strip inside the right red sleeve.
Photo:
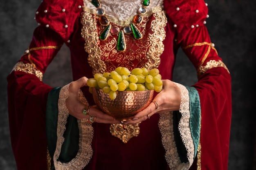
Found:
[{"label": "teal green silk lining strip inside the right red sleeve", "polygon": [[194,87],[185,86],[189,91],[189,109],[190,109],[190,129],[195,147],[195,156],[198,152],[200,141],[200,126],[201,126],[201,105],[198,91]]}]

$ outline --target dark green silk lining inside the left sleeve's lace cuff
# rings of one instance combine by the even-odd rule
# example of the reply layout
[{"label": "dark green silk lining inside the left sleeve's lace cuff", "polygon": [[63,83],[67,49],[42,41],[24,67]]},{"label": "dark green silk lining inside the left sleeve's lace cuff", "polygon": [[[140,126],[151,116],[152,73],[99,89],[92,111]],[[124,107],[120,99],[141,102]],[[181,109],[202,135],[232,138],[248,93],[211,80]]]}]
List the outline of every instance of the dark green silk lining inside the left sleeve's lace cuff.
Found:
[{"label": "dark green silk lining inside the left sleeve's lace cuff", "polygon": [[[61,88],[53,88],[49,92],[47,98],[46,109],[46,137],[49,154],[53,157],[57,142],[57,126],[58,126],[58,99]],[[77,119],[72,115],[67,118],[66,130],[63,134],[65,138],[61,147],[61,153],[58,161],[69,162],[79,150],[79,128]]]}]

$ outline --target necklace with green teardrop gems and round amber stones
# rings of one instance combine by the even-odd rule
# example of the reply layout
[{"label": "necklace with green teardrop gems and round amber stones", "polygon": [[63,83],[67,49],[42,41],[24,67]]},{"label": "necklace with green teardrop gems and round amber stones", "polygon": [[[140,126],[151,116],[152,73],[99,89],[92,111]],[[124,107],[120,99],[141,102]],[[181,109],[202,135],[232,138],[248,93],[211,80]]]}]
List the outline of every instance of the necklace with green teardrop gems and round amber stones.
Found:
[{"label": "necklace with green teardrop gems and round amber stones", "polygon": [[101,2],[99,0],[92,0],[91,3],[94,5],[94,7],[97,8],[96,15],[99,16],[99,24],[101,24],[101,26],[106,26],[102,33],[99,35],[100,40],[106,40],[110,33],[112,35],[118,34],[117,50],[126,51],[126,40],[124,36],[125,34],[132,33],[136,40],[142,38],[142,34],[136,26],[141,24],[143,20],[142,15],[147,12],[146,8],[149,7],[150,0],[142,0],[141,7],[139,7],[139,9],[137,10],[137,14],[134,16],[132,23],[130,25],[122,27],[121,30],[119,29],[119,27],[112,26],[110,24],[108,17],[105,15],[105,11],[101,8]]}]

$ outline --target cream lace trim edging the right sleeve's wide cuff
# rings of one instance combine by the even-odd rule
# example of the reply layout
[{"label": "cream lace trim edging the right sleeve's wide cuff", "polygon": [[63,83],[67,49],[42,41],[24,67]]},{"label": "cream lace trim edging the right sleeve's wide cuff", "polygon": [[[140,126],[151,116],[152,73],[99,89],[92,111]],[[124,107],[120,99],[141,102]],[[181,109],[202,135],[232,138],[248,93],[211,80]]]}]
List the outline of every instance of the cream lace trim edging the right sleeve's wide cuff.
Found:
[{"label": "cream lace trim edging the right sleeve's wide cuff", "polygon": [[180,161],[173,134],[173,112],[162,113],[159,118],[159,129],[162,134],[162,144],[166,150],[165,159],[171,170],[188,170],[193,163],[194,145],[189,126],[190,110],[189,110],[189,91],[185,86],[175,83],[181,91],[180,113],[182,115],[178,129],[180,131],[182,141],[187,150],[188,163]]}]

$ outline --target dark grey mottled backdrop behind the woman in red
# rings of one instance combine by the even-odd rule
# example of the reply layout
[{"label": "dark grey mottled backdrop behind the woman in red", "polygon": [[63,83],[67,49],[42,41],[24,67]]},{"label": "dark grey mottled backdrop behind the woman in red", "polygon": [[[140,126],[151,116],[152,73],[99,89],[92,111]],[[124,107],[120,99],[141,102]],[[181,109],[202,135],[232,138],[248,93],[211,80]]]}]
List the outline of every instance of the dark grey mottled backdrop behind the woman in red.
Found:
[{"label": "dark grey mottled backdrop behind the woman in red", "polygon": [[[0,2],[0,170],[16,170],[8,126],[6,77],[29,46],[35,11],[41,0],[1,0]],[[252,170],[255,139],[256,46],[255,0],[207,0],[211,40],[232,77],[233,116],[229,170]],[[175,67],[176,82],[194,84],[195,69],[180,52]],[[71,81],[69,52],[58,53],[44,75],[44,82],[63,86]],[[254,87],[254,88],[253,88]],[[32,127],[31,127],[32,128]],[[36,156],[36,155],[35,155]]]}]

